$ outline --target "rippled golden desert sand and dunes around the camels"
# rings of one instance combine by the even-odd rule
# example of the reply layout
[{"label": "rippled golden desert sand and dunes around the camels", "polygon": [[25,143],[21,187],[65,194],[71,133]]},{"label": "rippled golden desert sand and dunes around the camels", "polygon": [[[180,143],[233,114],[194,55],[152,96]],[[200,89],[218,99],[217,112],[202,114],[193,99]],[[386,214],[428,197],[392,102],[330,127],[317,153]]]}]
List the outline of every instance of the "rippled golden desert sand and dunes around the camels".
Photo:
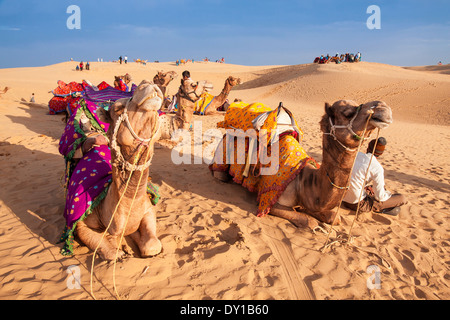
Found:
[{"label": "rippled golden desert sand and dunes around the camels", "polygon": [[[157,70],[210,80],[219,94],[229,75],[244,83],[229,99],[290,109],[304,131],[303,146],[321,161],[319,120],[325,102],[383,100],[394,123],[381,131],[388,145],[380,162],[387,188],[409,203],[399,216],[365,213],[353,235],[359,248],[336,244],[322,252],[327,236],[288,221],[255,216],[256,197],[240,185],[215,181],[206,163],[175,165],[164,143],[151,166],[160,187],[156,206],[163,252],[117,262],[115,281],[122,299],[449,299],[450,298],[450,76],[448,66],[402,68],[361,62],[340,65],[239,66],[217,63],[91,63],[0,70],[0,299],[93,299],[92,252],[80,243],[64,257],[58,244],[64,228],[64,160],[58,153],[65,123],[48,114],[57,80],[88,79],[112,84],[130,73],[135,83]],[[31,94],[35,103],[28,103]],[[195,116],[202,130],[223,116]],[[207,144],[204,145],[207,147]],[[340,209],[348,232],[354,213]],[[331,238],[334,238],[335,234]],[[128,241],[128,240],[127,240]],[[133,250],[134,248],[134,250]],[[70,288],[68,268],[79,270],[81,286]],[[367,281],[379,270],[381,287]],[[114,264],[95,261],[93,292],[116,299]],[[372,282],[371,282],[372,283]],[[73,287],[73,286],[72,286]]]}]

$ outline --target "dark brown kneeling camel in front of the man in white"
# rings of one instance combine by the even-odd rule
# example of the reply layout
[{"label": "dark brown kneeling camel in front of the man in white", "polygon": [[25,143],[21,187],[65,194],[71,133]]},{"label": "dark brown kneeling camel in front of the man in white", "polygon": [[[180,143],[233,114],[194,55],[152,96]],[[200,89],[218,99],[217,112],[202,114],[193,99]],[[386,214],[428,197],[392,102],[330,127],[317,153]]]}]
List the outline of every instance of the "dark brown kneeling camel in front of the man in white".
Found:
[{"label": "dark brown kneeling camel in front of the man in white", "polygon": [[[386,128],[391,123],[391,108],[382,101],[362,105],[347,100],[333,105],[326,103],[325,115],[320,121],[323,133],[320,168],[306,164],[282,191],[269,214],[287,219],[297,227],[314,229],[320,222],[339,224],[340,217],[332,210],[346,191],[360,139],[366,139],[376,128]],[[214,171],[213,175],[224,182],[230,180],[228,172]]]}]

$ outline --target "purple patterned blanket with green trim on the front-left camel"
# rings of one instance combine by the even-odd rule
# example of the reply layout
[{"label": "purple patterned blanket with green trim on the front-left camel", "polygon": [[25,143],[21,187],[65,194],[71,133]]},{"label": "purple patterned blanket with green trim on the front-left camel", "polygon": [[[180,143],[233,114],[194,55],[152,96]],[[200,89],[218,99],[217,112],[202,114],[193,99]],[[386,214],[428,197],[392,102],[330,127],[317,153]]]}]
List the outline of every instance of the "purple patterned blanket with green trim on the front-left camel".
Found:
[{"label": "purple patterned blanket with green trim on the front-left camel", "polygon": [[[61,237],[63,255],[73,253],[73,232],[80,219],[84,219],[103,200],[111,183],[111,151],[108,146],[94,146],[86,154],[80,148],[88,134],[106,134],[109,124],[101,122],[91,102],[80,100],[79,107],[70,117],[59,142],[59,152],[66,161],[66,226]],[[90,120],[90,131],[83,121]],[[84,130],[83,130],[84,129]]]}]

